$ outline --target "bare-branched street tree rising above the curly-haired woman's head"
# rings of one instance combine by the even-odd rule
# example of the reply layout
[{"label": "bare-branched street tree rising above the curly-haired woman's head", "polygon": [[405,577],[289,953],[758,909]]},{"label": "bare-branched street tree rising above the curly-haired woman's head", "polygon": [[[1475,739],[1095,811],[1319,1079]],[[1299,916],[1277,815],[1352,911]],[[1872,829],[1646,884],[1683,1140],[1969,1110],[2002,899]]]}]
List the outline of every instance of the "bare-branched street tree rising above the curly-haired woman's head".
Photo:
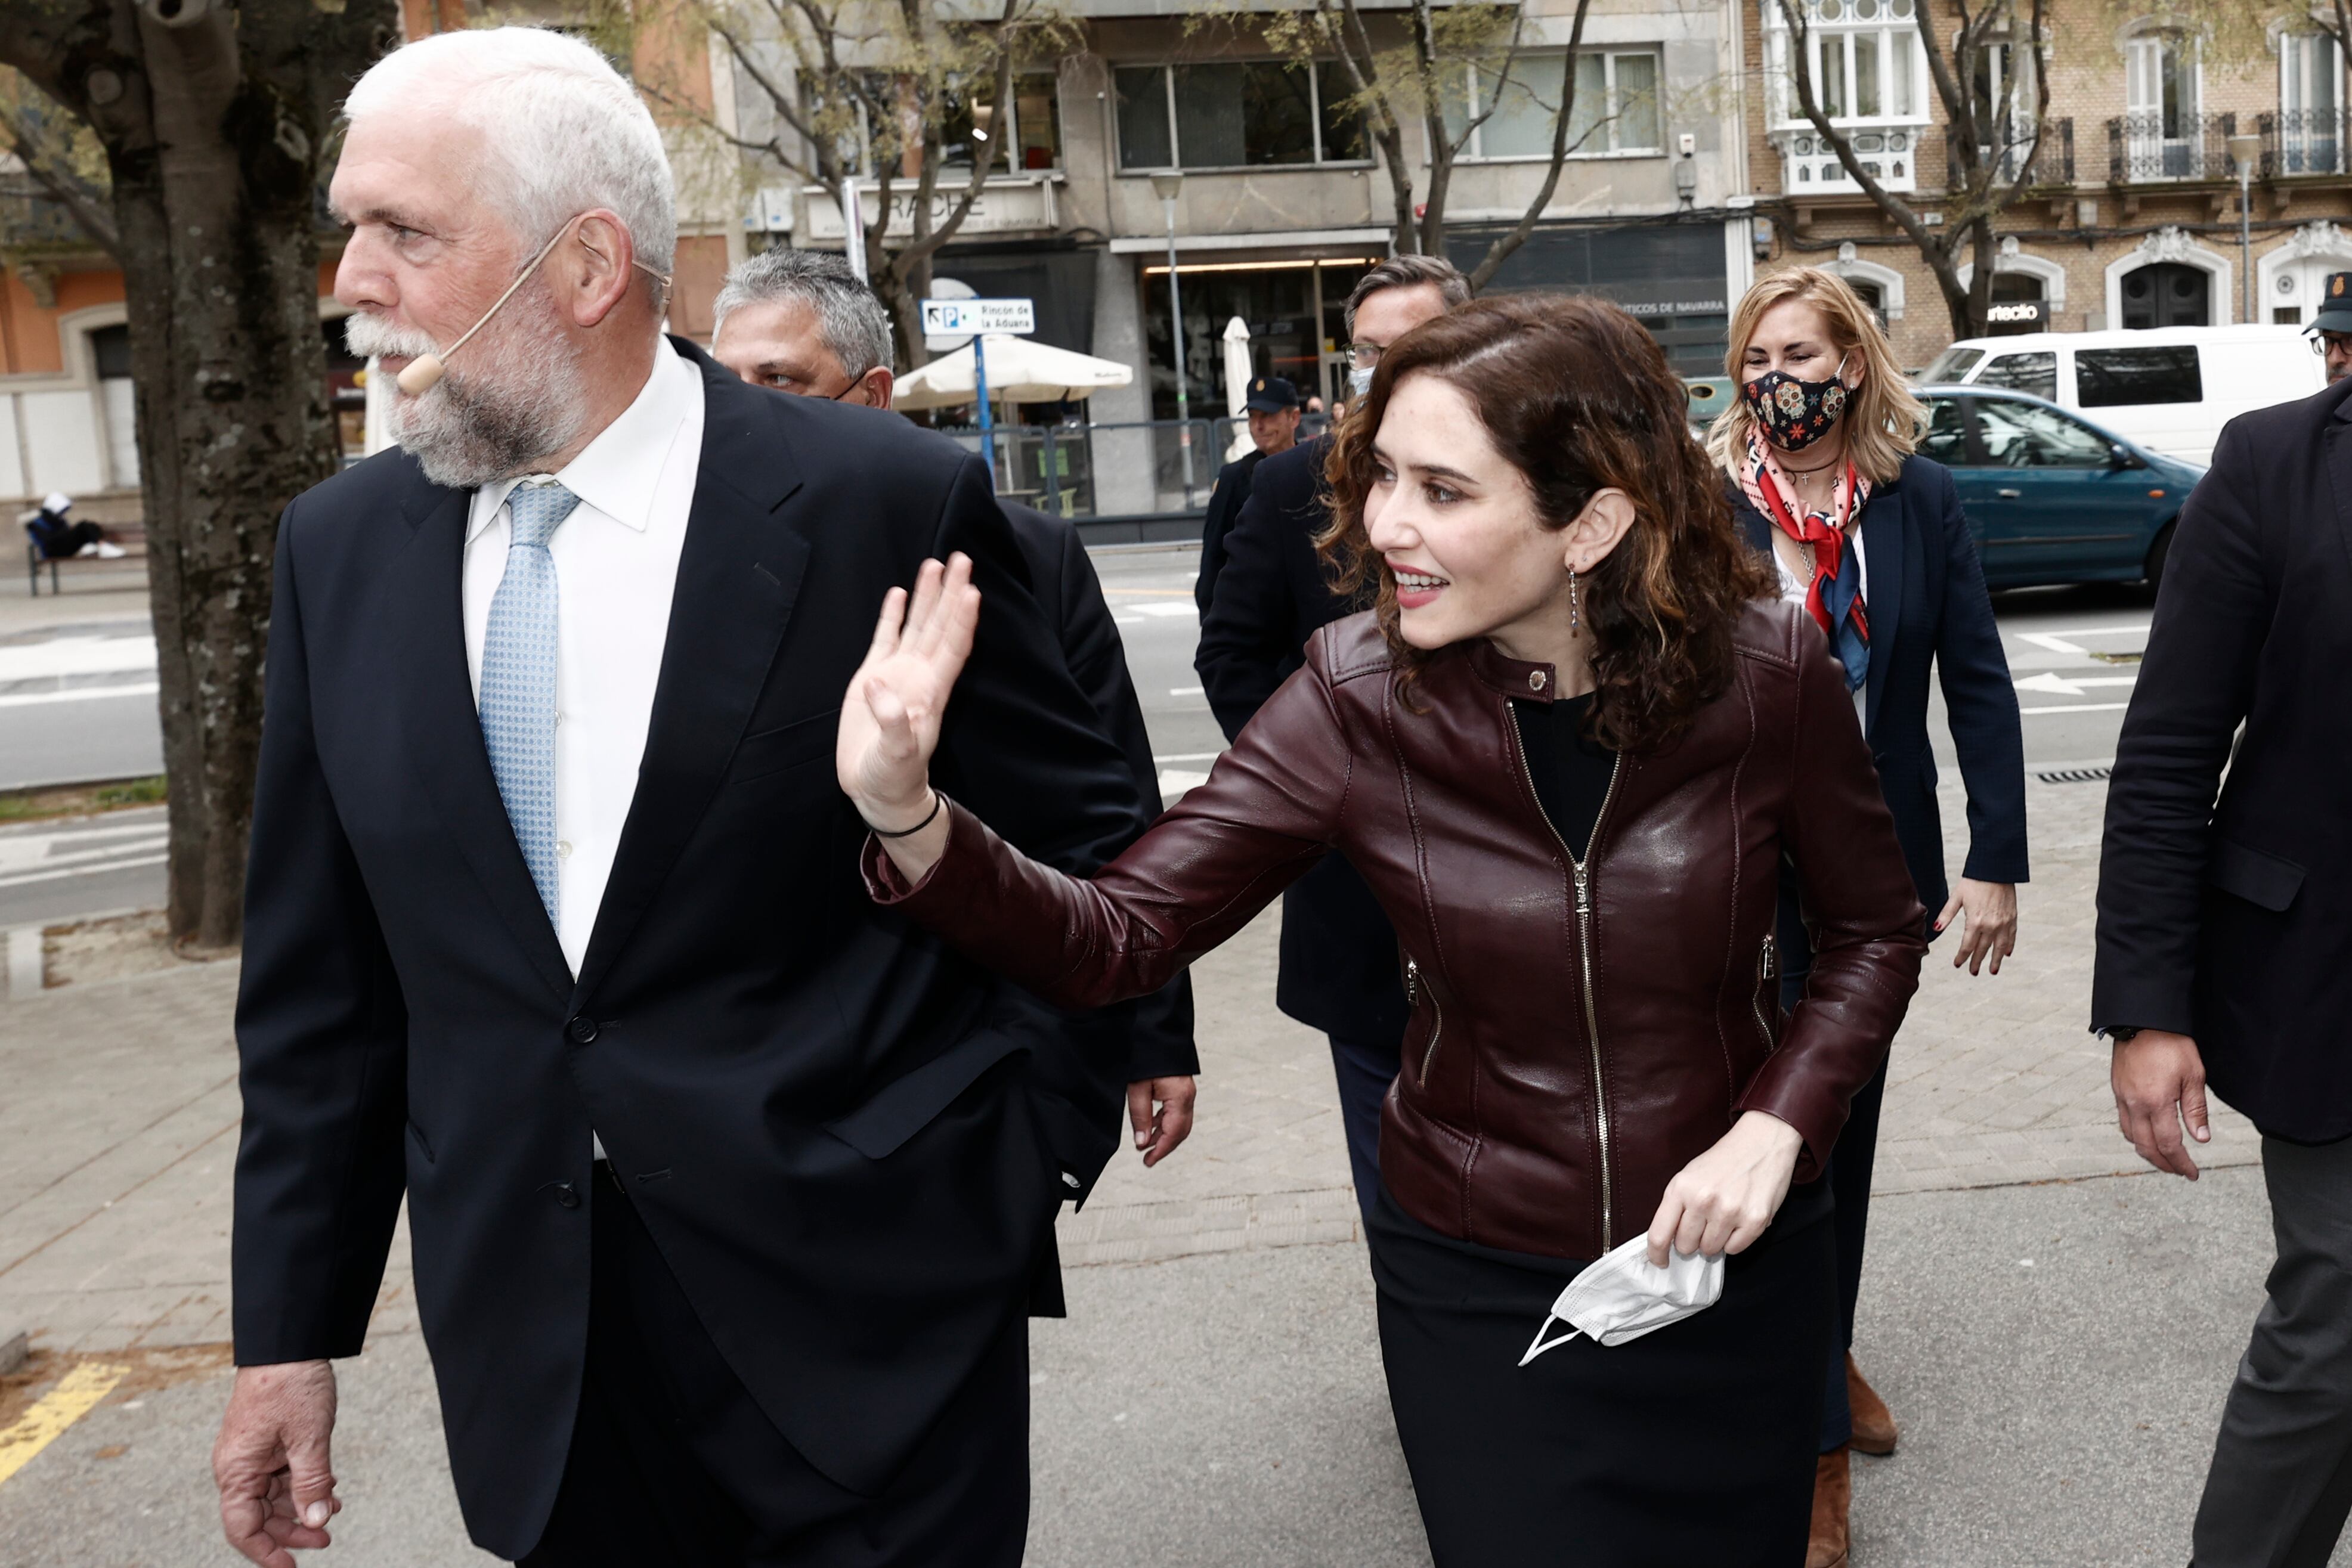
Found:
[{"label": "bare-branched street tree rising above the curly-haired woman's head", "polygon": [[[1367,21],[1359,0],[1310,0],[1310,5],[1247,16],[1268,40],[1298,63],[1336,59],[1348,96],[1345,113],[1362,115],[1395,205],[1397,254],[1446,254],[1446,202],[1456,165],[1472,136],[1512,113],[1519,122],[1550,129],[1543,179],[1519,219],[1498,233],[1470,268],[1470,289],[1484,289],[1512,252],[1526,244],[1559,190],[1559,172],[1606,125],[1623,115],[1588,101],[1578,113],[1578,45],[1592,0],[1576,0],[1566,54],[1536,49],[1529,38],[1529,5],[1439,5],[1411,0],[1404,12],[1385,7]],[[1230,14],[1235,21],[1244,16]],[[1583,82],[1590,92],[1590,82]],[[1651,87],[1651,94],[1656,87]],[[1597,94],[1595,94],[1597,96]],[[1656,99],[1651,96],[1651,106]],[[1428,183],[1416,183],[1406,158],[1406,127],[1421,129],[1430,153]]]}]

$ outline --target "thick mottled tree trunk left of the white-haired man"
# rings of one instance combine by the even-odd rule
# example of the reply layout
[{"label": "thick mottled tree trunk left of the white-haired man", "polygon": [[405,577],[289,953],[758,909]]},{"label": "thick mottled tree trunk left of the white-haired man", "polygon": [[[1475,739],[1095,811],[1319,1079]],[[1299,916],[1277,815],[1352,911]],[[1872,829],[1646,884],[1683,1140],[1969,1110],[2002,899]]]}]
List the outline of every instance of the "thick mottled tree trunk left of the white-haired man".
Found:
[{"label": "thick mottled tree trunk left of the white-haired man", "polygon": [[397,40],[393,0],[0,0],[9,148],[122,268],[186,945],[242,931],[278,512],[336,465],[318,190]]}]

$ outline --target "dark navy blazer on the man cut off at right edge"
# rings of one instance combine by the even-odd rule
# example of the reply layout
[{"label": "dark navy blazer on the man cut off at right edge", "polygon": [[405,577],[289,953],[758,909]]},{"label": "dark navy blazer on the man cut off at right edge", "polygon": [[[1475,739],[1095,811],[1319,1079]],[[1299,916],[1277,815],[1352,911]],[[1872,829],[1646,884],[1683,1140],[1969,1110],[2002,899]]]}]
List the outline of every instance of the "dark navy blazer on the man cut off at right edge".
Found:
[{"label": "dark navy blazer on the man cut off at right edge", "polygon": [[2352,381],[2232,418],[2114,743],[2091,1025],[2192,1034],[2265,1135],[2352,1135]]}]

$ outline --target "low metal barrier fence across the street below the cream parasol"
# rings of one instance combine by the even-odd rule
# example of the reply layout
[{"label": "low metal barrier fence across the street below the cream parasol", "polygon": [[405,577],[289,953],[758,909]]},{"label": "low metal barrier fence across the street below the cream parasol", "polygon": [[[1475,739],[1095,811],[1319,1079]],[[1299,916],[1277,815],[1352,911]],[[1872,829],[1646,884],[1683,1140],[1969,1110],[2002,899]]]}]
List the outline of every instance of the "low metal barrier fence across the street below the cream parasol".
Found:
[{"label": "low metal barrier fence across the street below the cream parasol", "polygon": [[[1324,423],[1319,414],[1303,421],[1301,440]],[[941,428],[941,435],[981,451],[974,425]],[[1209,505],[1216,470],[1249,451],[1249,421],[997,425],[995,449],[997,496],[1040,512],[1098,522],[1197,517]]]}]

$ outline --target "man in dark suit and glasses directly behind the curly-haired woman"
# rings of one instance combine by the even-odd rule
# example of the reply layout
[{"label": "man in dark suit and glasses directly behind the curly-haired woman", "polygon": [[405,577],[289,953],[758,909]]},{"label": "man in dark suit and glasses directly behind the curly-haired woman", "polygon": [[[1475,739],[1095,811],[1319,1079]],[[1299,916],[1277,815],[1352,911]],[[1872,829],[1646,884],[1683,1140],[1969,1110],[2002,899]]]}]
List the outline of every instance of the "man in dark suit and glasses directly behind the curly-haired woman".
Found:
[{"label": "man in dark suit and glasses directly behind the curly-haired woman", "polygon": [[[1444,256],[1390,256],[1364,273],[1345,317],[1350,407],[1371,388],[1381,350],[1465,303],[1470,280]],[[1223,567],[1204,592],[1192,668],[1228,738],[1301,665],[1315,628],[1357,609],[1331,592],[1315,555],[1315,534],[1329,515],[1322,477],[1329,451],[1331,437],[1317,435],[1258,463],[1225,536]],[[1324,856],[1282,896],[1275,1006],[1331,1039],[1348,1166],[1357,1206],[1369,1215],[1381,1180],[1381,1098],[1397,1077],[1409,1009],[1397,933],[1341,856]]]}]

